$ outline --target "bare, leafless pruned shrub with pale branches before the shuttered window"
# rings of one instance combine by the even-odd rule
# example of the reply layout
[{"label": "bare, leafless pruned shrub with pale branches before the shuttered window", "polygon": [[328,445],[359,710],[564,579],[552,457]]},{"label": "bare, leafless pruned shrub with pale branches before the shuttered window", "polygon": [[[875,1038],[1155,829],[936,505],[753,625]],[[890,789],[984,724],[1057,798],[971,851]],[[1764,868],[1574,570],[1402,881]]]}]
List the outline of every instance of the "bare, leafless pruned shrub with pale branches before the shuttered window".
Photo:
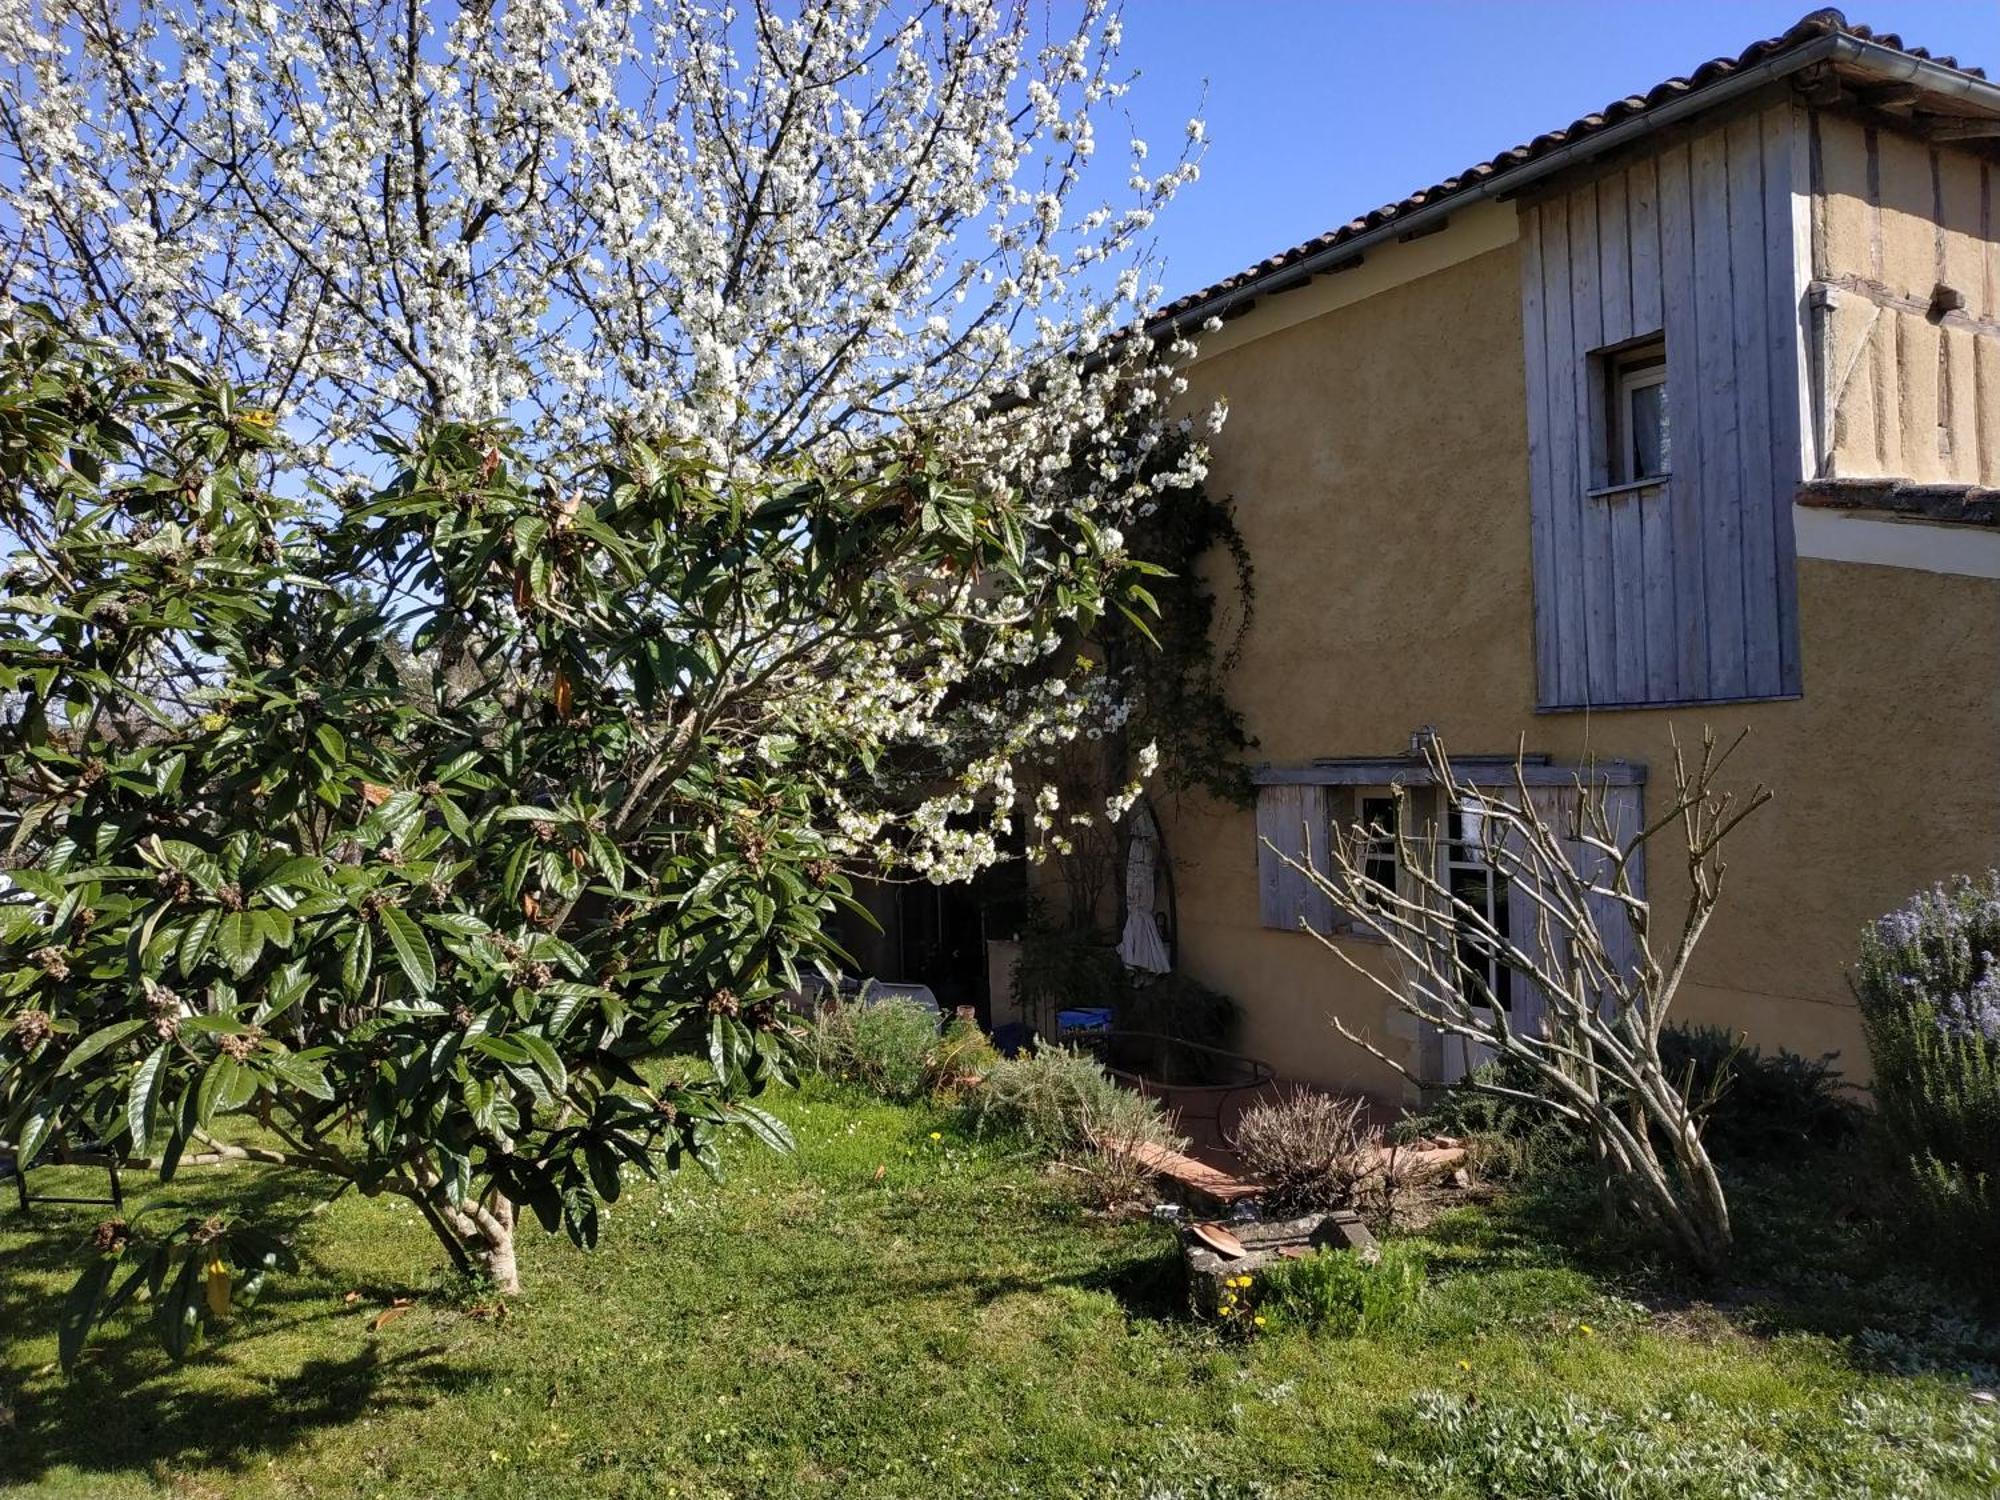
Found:
[{"label": "bare, leafless pruned shrub with pale branches before the shuttered window", "polygon": [[[1532,936],[1446,878],[1438,860],[1444,830],[1406,806],[1404,790],[1394,828],[1404,878],[1396,884],[1370,872],[1366,850],[1380,838],[1376,828],[1356,824],[1330,838],[1324,870],[1272,846],[1320,896],[1388,944],[1388,964],[1364,964],[1316,932],[1338,962],[1424,1026],[1526,1070],[1526,1092],[1590,1140],[1606,1210],[1630,1214],[1704,1276],[1720,1274],[1728,1260],[1730,1208],[1694,1110],[1660,1066],[1658,1042],[1720,900],[1722,842],[1770,800],[1764,788],[1742,800],[1722,790],[1732,750],[1704,732],[1700,760],[1690,762],[1676,742],[1664,806],[1642,822],[1630,794],[1596,772],[1576,772],[1560,790],[1530,788],[1528,766],[1518,762],[1512,786],[1496,786],[1460,774],[1444,746],[1428,740],[1436,806],[1452,810],[1448,828],[1458,830],[1458,842],[1476,846],[1478,862],[1516,892],[1514,910],[1532,906]],[[1670,832],[1690,876],[1678,924],[1648,902],[1642,880],[1646,846]],[[1496,968],[1534,986],[1540,1024],[1516,1026],[1506,1004],[1492,1004]],[[1406,1056],[1384,1052],[1340,1016],[1332,1022],[1378,1062],[1422,1084]]]}]

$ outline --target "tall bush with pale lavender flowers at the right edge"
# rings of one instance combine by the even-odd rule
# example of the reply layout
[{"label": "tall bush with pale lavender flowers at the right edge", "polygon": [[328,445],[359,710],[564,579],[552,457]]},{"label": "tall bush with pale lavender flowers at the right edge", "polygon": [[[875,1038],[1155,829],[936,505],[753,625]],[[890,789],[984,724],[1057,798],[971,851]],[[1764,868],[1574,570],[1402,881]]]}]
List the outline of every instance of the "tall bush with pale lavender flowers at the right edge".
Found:
[{"label": "tall bush with pale lavender flowers at the right edge", "polygon": [[2000,872],[1870,924],[1854,994],[1882,1126],[1934,1242],[2000,1250]]}]

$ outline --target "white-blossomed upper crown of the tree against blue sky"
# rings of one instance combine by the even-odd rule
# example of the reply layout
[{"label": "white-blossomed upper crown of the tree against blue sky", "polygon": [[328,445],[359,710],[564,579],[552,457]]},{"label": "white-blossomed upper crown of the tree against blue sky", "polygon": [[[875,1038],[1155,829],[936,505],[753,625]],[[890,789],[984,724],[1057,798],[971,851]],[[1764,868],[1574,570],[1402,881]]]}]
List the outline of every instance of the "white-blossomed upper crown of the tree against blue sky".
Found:
[{"label": "white-blossomed upper crown of the tree against blue sky", "polygon": [[[998,0],[0,4],[12,296],[338,442],[394,410],[766,460],[920,426],[1054,472],[1194,174],[1122,142],[1120,22]],[[1134,350],[1134,358],[1146,358]],[[1026,400],[1032,396],[1032,400]],[[1022,402],[1012,420],[996,400]]]}]

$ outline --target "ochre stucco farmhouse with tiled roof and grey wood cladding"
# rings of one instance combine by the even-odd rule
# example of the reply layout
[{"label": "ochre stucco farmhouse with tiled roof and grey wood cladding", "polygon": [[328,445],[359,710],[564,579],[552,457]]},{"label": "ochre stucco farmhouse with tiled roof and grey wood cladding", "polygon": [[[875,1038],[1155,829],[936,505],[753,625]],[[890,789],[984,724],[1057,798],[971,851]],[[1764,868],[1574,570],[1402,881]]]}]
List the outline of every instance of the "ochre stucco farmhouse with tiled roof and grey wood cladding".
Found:
[{"label": "ochre stucco farmhouse with tiled roof and grey wood cladding", "polygon": [[2000,86],[1822,10],[1162,310],[1212,328],[1190,398],[1228,400],[1256,566],[1256,808],[1156,808],[1176,962],[1246,1052],[1408,1092],[1340,1016],[1466,1066],[1302,932],[1388,962],[1272,848],[1324,860],[1402,784],[1504,912],[1414,736],[1594,762],[1640,816],[1670,726],[1712,726],[1776,802],[1680,1014],[1866,1072],[1860,926],[2000,860],[1996,198]]}]

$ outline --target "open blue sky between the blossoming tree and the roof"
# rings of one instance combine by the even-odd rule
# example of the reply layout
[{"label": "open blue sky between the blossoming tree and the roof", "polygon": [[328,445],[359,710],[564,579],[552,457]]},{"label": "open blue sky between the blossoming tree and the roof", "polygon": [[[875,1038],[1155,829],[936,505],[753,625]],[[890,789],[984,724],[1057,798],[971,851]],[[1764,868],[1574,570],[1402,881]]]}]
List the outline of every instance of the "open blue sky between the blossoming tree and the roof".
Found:
[{"label": "open blue sky between the blossoming tree and the roof", "polygon": [[[1624,94],[1778,36],[1808,0],[1126,0],[1156,158],[1208,122],[1160,222],[1178,296]],[[2000,0],[1856,0],[1848,20],[2000,76]],[[1206,82],[1206,104],[1202,88]]]}]

